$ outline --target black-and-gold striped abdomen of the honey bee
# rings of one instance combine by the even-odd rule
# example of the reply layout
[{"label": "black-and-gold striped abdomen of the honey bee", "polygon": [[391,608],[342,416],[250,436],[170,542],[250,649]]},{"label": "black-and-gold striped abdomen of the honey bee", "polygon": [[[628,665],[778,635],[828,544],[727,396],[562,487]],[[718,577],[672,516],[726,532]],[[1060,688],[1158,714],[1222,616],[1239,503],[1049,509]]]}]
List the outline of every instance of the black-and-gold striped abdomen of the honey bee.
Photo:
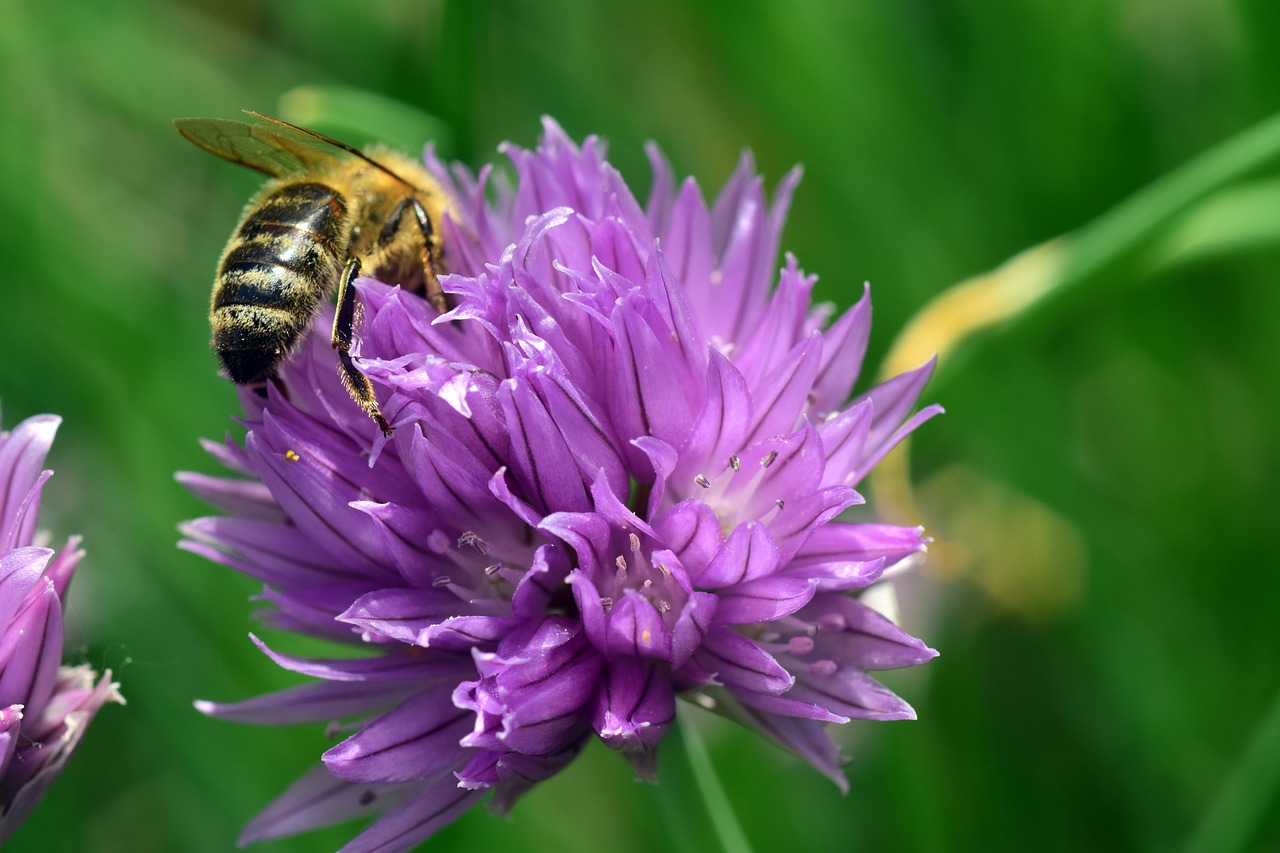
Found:
[{"label": "black-and-gold striped abdomen of the honey bee", "polygon": [[218,270],[214,348],[233,382],[269,378],[338,280],[347,205],[332,187],[294,183],[264,199]]}]

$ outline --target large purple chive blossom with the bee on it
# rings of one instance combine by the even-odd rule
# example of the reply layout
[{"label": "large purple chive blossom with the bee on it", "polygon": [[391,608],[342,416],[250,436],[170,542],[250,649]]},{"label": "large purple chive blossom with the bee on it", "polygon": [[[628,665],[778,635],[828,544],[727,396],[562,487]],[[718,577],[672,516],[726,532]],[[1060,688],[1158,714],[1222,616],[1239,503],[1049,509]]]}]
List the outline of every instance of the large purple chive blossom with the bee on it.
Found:
[{"label": "large purple chive blossom with the bee on it", "polygon": [[[916,425],[932,362],[858,397],[870,302],[831,321],[776,268],[744,158],[714,205],[650,151],[641,206],[589,138],[548,122],[517,182],[428,155],[453,202],[438,316],[358,282],[357,355],[396,428],[351,405],[317,325],[248,434],[184,475],[230,512],[184,546],[266,584],[266,621],[364,657],[264,651],[319,679],[230,720],[352,734],[243,840],[383,812],[348,850],[401,850],[486,790],[504,811],[593,735],[645,779],[677,694],[742,720],[845,785],[826,724],[911,708],[868,670],[936,652],[850,592],[923,551],[919,528],[838,520]],[[495,199],[495,201],[494,201]]]}]

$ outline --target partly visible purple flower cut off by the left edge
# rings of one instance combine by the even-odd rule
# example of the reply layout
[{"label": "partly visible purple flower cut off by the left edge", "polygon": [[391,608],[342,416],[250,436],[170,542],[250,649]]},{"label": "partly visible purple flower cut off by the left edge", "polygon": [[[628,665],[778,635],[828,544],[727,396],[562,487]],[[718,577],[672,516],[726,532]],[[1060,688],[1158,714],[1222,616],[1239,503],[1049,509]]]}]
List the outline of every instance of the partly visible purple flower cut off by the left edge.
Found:
[{"label": "partly visible purple flower cut off by the left edge", "polygon": [[55,556],[36,547],[42,471],[61,419],[37,415],[0,433],[0,844],[36,807],[108,702],[108,670],[59,666],[63,598],[84,552],[72,537]]}]

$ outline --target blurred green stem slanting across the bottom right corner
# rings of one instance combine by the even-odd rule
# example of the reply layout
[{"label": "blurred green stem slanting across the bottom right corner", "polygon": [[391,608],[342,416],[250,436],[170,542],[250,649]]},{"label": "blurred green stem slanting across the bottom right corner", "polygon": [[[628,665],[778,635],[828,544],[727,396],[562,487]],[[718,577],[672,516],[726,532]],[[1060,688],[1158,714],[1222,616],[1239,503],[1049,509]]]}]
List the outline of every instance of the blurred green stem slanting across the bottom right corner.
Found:
[{"label": "blurred green stem slanting across the bottom right corner", "polygon": [[1280,797],[1280,694],[1263,715],[1187,844],[1187,853],[1251,849]]}]

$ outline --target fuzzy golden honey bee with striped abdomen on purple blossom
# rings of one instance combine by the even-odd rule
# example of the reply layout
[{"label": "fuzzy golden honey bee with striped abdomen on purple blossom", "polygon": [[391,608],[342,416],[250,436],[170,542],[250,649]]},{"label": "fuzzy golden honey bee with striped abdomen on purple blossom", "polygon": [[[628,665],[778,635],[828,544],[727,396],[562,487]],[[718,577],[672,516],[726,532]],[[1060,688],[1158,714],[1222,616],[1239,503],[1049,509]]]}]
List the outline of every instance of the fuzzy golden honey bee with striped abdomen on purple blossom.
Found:
[{"label": "fuzzy golden honey bee with striped abdomen on purple blossom", "polygon": [[337,140],[248,113],[252,122],[192,118],[174,127],[218,156],[268,181],[232,233],[209,310],[212,346],[234,383],[262,386],[293,352],[337,289],[333,347],[351,398],[383,430],[374,387],[351,359],[362,269],[421,287],[440,313],[440,222],[447,196],[419,163],[381,146],[358,151]]}]

